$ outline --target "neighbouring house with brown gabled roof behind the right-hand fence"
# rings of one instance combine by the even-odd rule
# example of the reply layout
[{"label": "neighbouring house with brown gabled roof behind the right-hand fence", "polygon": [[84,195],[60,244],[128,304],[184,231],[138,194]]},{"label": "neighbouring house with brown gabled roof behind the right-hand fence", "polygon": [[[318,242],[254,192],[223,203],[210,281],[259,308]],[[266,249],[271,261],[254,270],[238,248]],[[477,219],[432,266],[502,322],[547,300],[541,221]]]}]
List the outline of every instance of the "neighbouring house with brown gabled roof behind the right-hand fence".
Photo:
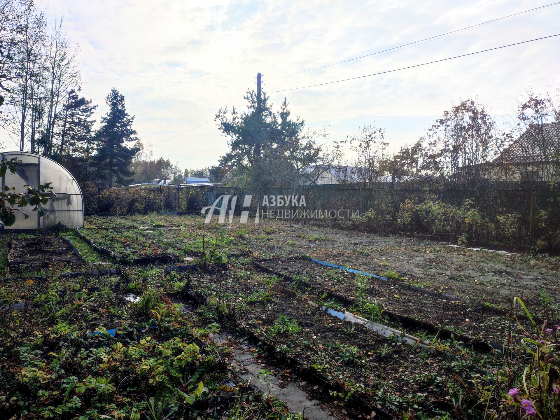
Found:
[{"label": "neighbouring house with brown gabled roof behind the right-hand fence", "polygon": [[493,180],[552,180],[560,175],[560,123],[531,125],[489,166]]}]

